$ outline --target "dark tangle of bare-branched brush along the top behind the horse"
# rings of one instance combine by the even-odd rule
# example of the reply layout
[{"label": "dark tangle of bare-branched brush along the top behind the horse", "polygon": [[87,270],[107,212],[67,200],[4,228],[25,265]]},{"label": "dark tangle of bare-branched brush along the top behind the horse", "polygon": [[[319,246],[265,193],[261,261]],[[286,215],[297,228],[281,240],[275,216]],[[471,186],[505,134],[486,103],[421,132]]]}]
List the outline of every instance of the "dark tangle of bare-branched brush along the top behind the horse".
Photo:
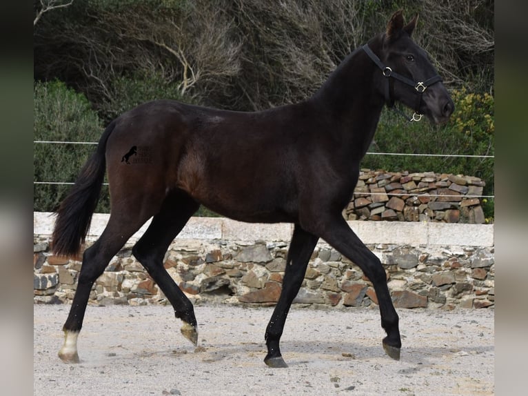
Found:
[{"label": "dark tangle of bare-branched brush along the top behind the horse", "polygon": [[182,95],[262,110],[311,95],[398,8],[451,87],[492,92],[493,0],[76,0],[34,30],[34,74],[99,109],[112,81],[161,75]]}]

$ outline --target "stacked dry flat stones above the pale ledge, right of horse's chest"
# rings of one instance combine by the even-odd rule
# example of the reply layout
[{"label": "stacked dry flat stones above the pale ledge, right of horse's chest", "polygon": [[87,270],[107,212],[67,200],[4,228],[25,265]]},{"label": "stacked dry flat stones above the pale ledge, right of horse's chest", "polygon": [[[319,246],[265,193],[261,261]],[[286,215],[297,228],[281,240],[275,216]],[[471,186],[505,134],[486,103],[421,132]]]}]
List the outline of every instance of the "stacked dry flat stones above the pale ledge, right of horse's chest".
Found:
[{"label": "stacked dry flat stones above the pale ledge, right of horse's chest", "polygon": [[349,220],[484,224],[484,186],[472,176],[362,169],[344,215]]}]

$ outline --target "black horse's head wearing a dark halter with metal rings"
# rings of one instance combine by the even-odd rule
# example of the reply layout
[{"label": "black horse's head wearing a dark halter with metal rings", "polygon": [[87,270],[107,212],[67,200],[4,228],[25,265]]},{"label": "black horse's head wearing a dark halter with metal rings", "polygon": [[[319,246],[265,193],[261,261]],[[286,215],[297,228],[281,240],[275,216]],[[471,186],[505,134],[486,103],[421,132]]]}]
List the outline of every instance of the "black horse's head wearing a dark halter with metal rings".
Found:
[{"label": "black horse's head wearing a dark halter with metal rings", "polygon": [[373,59],[382,71],[378,81],[389,106],[400,101],[434,123],[445,123],[454,103],[427,53],[411,38],[417,20],[418,16],[405,24],[401,11],[392,15],[382,37],[379,59]]}]

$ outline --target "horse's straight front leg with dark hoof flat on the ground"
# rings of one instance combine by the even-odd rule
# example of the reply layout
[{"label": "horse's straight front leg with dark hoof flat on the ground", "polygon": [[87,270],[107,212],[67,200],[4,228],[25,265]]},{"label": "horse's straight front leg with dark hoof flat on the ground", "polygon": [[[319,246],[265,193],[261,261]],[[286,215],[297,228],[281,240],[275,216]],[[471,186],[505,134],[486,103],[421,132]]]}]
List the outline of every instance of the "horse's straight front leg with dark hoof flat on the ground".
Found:
[{"label": "horse's straight front leg with dark hoof flat on the ground", "polygon": [[272,318],[266,329],[267,355],[264,362],[267,366],[274,368],[287,367],[281,355],[279,342],[281,341],[288,311],[290,310],[290,306],[292,306],[292,301],[296,297],[299,288],[301,288],[301,284],[303,284],[306,267],[317,241],[318,237],[306,232],[298,225],[295,226],[286,260],[281,297],[278,299],[278,303],[275,306]]}]

